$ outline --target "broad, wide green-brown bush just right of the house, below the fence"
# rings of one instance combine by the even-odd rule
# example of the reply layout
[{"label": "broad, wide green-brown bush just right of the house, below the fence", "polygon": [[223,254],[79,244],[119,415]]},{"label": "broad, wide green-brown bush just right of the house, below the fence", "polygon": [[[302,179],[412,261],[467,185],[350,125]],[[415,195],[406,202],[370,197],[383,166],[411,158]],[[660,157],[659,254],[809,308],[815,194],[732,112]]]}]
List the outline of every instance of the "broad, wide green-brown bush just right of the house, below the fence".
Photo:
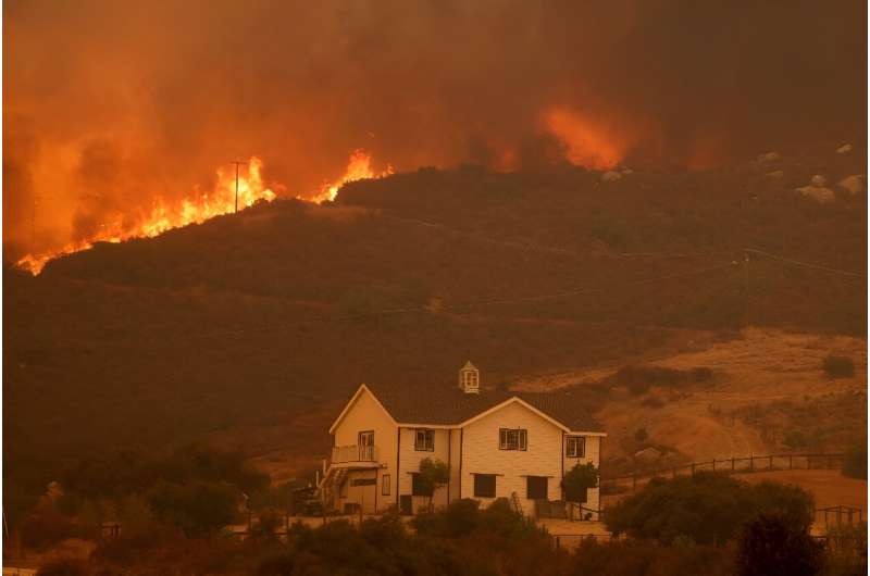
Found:
[{"label": "broad, wide green-brown bush just right of the house, below the fence", "polygon": [[703,472],[671,480],[654,478],[638,492],[609,506],[610,531],[671,543],[688,536],[701,544],[737,536],[758,513],[782,511],[796,526],[812,522],[812,498],[800,488],[773,483],[749,485]]}]

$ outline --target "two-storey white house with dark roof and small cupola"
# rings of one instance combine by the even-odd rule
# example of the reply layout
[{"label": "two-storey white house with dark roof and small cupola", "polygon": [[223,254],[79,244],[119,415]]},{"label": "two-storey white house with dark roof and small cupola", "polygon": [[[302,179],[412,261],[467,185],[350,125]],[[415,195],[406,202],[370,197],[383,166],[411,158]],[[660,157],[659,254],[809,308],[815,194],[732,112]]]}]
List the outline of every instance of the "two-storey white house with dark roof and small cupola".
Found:
[{"label": "two-storey white house with dark roof and small cupola", "polygon": [[[600,424],[569,393],[483,390],[469,362],[459,386],[420,388],[360,385],[330,428],[332,459],[320,483],[324,504],[366,514],[403,514],[428,504],[415,486],[425,458],[450,466],[436,506],[460,498],[484,504],[507,498],[526,514],[563,500],[561,478],[575,464],[599,466]],[[599,506],[598,489],[588,509]]]}]

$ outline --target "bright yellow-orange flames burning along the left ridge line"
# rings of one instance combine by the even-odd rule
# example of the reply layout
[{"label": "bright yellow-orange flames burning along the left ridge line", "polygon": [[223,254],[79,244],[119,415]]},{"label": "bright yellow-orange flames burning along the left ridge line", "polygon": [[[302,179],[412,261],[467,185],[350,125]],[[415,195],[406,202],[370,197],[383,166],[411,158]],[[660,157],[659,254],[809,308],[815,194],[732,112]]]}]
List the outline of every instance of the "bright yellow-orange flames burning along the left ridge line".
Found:
[{"label": "bright yellow-orange flames burning along the left ridge line", "polygon": [[[266,188],[262,179],[263,162],[252,156],[247,163],[247,170],[239,166],[238,173],[238,205],[239,209],[253,205],[258,201],[271,202],[276,195]],[[345,184],[365,178],[381,178],[393,174],[393,167],[387,166],[383,172],[372,170],[372,159],[362,150],[355,150],[348,161],[345,175],[331,184],[324,184],[311,198],[314,202],[335,200],[338,190]],[[114,222],[101,225],[100,231],[86,240],[72,241],[49,252],[27,254],[17,261],[17,266],[39,274],[49,260],[58,256],[87,250],[95,242],[122,242],[129,238],[151,238],[169,229],[199,224],[211,217],[227,214],[236,208],[236,171],[235,168],[217,168],[217,183],[211,193],[198,193],[185,199],[177,204],[157,202],[137,223],[130,225],[129,216],[119,217]]]}]

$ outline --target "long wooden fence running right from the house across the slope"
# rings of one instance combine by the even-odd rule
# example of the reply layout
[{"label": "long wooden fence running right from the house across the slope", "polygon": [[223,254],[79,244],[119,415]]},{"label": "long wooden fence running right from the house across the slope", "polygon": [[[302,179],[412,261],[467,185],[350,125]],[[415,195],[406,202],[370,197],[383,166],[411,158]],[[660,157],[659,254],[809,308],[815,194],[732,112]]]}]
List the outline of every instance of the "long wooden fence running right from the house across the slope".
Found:
[{"label": "long wooden fence running right from the house across the slope", "polygon": [[801,453],[767,454],[743,458],[713,459],[707,462],[693,462],[682,466],[670,466],[649,472],[636,472],[623,476],[601,478],[602,493],[618,493],[625,489],[634,490],[652,478],[675,478],[694,476],[697,472],[721,472],[724,474],[746,474],[776,469],[829,469],[843,464],[843,453]]}]

